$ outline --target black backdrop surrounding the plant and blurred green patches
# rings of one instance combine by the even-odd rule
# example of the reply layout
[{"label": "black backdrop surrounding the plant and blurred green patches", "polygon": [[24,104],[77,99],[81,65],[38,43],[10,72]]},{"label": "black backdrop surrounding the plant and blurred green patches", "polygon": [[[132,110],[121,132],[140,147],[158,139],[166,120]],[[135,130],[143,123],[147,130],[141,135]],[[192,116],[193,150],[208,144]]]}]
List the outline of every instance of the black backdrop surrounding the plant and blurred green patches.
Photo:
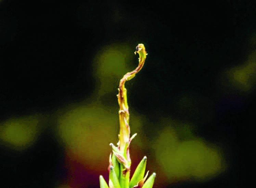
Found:
[{"label": "black backdrop surrounding the plant and blurred green patches", "polygon": [[[127,86],[130,105],[152,122],[143,125],[145,135],[154,135],[165,115],[191,122],[197,136],[222,148],[229,166],[204,182],[162,186],[245,187],[255,157],[256,68],[245,70],[246,90],[225,72],[255,53],[255,18],[255,1],[0,1],[0,119],[39,112],[42,126],[48,125],[23,152],[0,142],[1,187],[66,182],[65,148],[52,133],[52,113],[93,94],[95,54],[119,41],[131,48],[144,43],[149,53],[141,75]],[[104,95],[101,104],[117,108],[114,97]],[[181,99],[189,105],[178,104]],[[94,180],[90,187],[98,187]]]}]

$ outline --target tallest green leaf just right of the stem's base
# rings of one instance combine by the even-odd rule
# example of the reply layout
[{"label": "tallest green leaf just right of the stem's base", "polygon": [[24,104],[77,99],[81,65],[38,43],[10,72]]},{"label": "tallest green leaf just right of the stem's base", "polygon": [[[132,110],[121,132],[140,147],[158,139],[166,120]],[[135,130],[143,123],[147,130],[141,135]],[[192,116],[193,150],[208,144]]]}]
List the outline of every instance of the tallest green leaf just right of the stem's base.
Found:
[{"label": "tallest green leaf just right of the stem's base", "polygon": [[134,174],[131,178],[129,188],[134,187],[135,185],[138,184],[138,182],[140,180],[143,179],[144,174],[145,174],[145,169],[146,169],[146,161],[147,161],[147,158],[145,156],[145,157],[143,157],[143,159],[138,164],[138,166],[137,166],[137,168],[136,168],[136,170],[135,170],[135,172],[134,172]]}]

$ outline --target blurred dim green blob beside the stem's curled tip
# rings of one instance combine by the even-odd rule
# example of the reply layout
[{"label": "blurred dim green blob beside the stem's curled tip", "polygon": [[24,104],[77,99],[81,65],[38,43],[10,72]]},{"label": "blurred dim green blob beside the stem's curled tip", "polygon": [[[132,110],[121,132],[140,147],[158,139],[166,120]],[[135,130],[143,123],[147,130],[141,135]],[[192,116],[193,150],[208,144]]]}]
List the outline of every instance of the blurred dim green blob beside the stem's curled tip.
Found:
[{"label": "blurred dim green blob beside the stem's curled tip", "polygon": [[133,51],[126,43],[113,43],[103,46],[98,51],[93,62],[97,95],[102,96],[117,91],[119,80],[134,68],[131,63]]}]

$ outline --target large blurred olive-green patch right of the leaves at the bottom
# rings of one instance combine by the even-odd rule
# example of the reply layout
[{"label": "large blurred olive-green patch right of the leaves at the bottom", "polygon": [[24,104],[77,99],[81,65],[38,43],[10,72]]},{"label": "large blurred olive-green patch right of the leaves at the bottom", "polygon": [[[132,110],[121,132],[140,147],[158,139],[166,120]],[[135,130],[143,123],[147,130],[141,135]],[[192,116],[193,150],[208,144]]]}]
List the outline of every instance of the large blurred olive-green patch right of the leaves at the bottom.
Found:
[{"label": "large blurred olive-green patch right of the leaves at the bottom", "polygon": [[170,127],[161,131],[154,148],[156,159],[170,182],[205,181],[225,170],[222,156],[213,145],[196,137],[181,141]]}]

